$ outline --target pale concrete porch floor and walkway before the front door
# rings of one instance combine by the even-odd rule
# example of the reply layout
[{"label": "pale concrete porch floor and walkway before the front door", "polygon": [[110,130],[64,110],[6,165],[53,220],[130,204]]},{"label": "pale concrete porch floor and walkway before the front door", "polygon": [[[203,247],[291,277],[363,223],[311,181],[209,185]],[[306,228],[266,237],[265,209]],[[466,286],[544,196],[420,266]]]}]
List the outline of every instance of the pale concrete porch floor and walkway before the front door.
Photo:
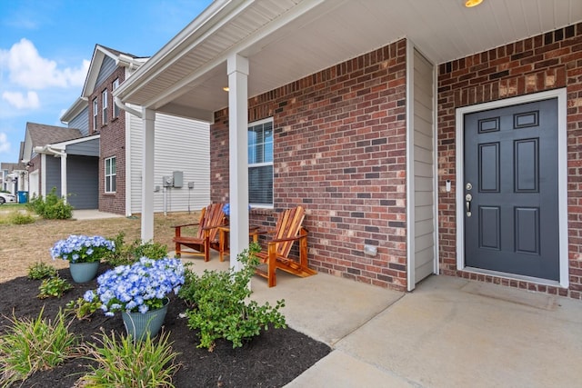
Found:
[{"label": "pale concrete porch floor and walkway before the front door", "polygon": [[[185,261],[190,261],[184,255]],[[227,269],[191,260],[195,270]],[[333,351],[287,387],[582,386],[582,302],[449,276],[398,293],[326,274],[277,272],[259,303]]]}]

